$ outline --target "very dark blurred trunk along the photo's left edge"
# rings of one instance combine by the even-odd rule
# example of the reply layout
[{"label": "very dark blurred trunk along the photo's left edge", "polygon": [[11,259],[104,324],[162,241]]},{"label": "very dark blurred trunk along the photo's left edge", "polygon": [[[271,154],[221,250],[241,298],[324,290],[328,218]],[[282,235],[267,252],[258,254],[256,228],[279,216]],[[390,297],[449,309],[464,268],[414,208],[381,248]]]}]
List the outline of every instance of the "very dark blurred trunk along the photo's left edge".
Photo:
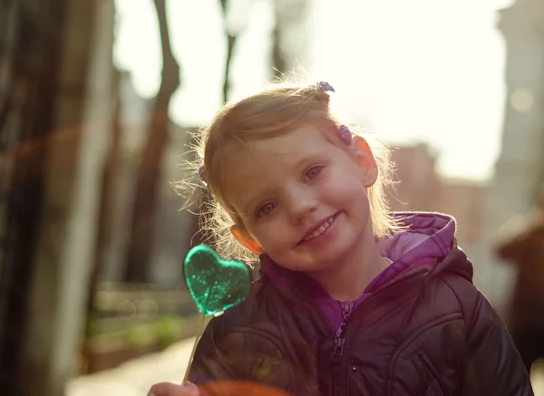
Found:
[{"label": "very dark blurred trunk along the photo's left edge", "polygon": [[26,305],[67,3],[0,2],[0,390],[14,396],[24,394]]}]

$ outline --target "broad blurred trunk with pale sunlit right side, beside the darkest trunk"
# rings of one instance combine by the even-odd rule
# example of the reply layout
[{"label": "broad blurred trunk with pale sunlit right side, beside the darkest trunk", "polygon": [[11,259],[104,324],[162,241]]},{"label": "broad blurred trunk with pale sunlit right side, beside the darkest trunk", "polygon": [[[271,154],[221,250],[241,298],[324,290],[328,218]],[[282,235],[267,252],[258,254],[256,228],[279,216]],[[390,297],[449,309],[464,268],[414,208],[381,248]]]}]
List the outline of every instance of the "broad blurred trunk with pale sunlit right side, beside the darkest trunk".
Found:
[{"label": "broad blurred trunk with pale sunlit right side, beside the darkest trunk", "polygon": [[33,396],[63,394],[75,369],[105,148],[112,137],[113,0],[65,0],[63,9],[56,11],[65,13],[63,24],[44,24],[59,31],[60,59],[57,91],[40,98],[42,104],[53,103],[54,133],[46,144],[50,155],[44,167],[44,209],[22,353],[25,393]]}]

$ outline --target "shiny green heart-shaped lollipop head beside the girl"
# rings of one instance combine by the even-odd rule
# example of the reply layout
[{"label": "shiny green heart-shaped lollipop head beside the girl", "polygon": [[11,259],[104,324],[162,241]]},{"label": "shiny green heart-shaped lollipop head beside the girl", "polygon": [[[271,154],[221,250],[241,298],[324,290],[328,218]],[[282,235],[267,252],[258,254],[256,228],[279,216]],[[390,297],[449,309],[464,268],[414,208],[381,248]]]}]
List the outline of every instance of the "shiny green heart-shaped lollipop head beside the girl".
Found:
[{"label": "shiny green heart-shaped lollipop head beside the girl", "polygon": [[251,288],[248,266],[222,260],[209,246],[190,249],[183,270],[189,293],[202,314],[219,314],[248,297]]}]

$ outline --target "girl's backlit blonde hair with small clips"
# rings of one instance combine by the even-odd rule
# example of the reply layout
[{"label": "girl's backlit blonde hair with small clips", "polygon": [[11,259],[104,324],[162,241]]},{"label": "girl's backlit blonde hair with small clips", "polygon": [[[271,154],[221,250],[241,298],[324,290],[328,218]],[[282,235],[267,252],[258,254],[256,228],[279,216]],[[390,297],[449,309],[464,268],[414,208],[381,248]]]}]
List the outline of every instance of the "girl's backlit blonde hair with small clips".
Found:
[{"label": "girl's backlit blonde hair with small clips", "polygon": [[[226,104],[207,127],[195,133],[196,143],[191,146],[195,159],[188,162],[188,178],[179,186],[185,192],[189,188],[189,203],[199,207],[201,231],[219,256],[246,262],[256,260],[256,256],[241,246],[230,232],[233,225],[243,227],[243,223],[223,194],[221,182],[226,171],[228,148],[232,144],[272,138],[304,123],[322,131],[337,130],[339,122],[329,108],[329,99],[328,93],[318,85],[276,84],[266,91]],[[367,191],[374,237],[387,237],[402,228],[389,213],[385,194],[386,188],[393,185],[390,151],[370,134],[356,134],[366,140],[378,167],[378,179]],[[326,136],[336,139],[335,144],[339,147],[345,147],[337,133]],[[206,188],[202,188],[201,167],[205,169]]]}]

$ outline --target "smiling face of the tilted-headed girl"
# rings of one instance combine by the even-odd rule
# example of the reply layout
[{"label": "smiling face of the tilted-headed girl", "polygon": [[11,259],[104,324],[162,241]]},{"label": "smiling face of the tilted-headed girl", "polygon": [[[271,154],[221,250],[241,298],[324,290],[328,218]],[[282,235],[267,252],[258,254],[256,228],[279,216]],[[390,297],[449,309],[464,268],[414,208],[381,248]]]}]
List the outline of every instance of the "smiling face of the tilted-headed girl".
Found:
[{"label": "smiling face of the tilted-headed girl", "polygon": [[305,125],[251,141],[229,159],[225,197],[245,238],[279,266],[320,272],[374,243],[366,188],[377,169],[364,140],[342,149]]}]

